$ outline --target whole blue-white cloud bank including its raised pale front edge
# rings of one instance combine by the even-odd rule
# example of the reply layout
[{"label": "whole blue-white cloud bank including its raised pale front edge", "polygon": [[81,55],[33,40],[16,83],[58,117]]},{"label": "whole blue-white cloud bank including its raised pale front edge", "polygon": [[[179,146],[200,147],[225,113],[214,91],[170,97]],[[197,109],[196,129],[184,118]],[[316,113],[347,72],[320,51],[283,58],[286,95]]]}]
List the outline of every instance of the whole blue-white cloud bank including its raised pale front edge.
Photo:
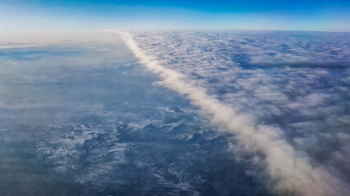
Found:
[{"label": "whole blue-white cloud bank including its raised pale front edge", "polygon": [[[339,35],[283,32],[112,32],[160,84],[186,96],[255,154],[275,193],[350,193],[350,79],[349,68],[339,66],[349,61],[349,41],[327,45],[317,40],[339,43]],[[322,63],[297,67],[310,61]],[[269,63],[277,64],[263,68]]]}]

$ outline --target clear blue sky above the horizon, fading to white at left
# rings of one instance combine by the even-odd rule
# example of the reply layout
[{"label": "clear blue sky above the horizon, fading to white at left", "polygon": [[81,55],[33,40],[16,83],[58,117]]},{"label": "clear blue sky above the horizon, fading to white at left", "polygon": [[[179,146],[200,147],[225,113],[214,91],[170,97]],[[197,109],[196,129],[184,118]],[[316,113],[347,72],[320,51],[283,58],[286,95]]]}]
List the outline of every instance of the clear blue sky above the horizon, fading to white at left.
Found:
[{"label": "clear blue sky above the horizon, fading to white at left", "polygon": [[93,29],[350,31],[350,1],[0,0],[0,39]]}]

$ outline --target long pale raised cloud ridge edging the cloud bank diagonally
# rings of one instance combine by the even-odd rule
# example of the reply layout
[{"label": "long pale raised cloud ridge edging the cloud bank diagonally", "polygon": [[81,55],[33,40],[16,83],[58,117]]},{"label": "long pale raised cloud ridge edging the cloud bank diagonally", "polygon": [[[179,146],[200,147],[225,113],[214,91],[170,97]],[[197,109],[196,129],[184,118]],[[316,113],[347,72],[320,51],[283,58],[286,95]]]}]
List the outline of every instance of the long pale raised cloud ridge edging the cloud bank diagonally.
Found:
[{"label": "long pale raised cloud ridge edging the cloud bank diagonally", "polygon": [[232,107],[209,96],[205,89],[188,82],[186,77],[174,70],[165,68],[151,56],[145,54],[134,42],[130,34],[112,31],[123,36],[127,47],[139,62],[160,76],[162,85],[186,96],[193,105],[200,107],[211,123],[235,134],[239,144],[248,152],[262,152],[265,172],[275,182],[272,189],[279,195],[346,195],[348,185],[332,175],[322,166],[311,165],[308,156],[300,156],[286,141],[280,128],[256,124],[253,116],[235,111]]}]

